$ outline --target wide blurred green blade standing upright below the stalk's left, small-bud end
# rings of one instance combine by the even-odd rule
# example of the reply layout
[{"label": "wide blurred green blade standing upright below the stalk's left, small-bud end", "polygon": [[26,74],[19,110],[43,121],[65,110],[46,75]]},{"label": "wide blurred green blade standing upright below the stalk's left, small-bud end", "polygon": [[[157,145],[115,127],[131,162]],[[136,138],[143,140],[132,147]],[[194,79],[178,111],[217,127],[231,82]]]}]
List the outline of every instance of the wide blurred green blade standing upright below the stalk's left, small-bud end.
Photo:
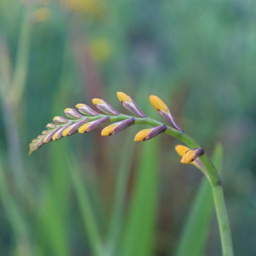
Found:
[{"label": "wide blurred green blade standing upright below the stalk's left, small-bud end", "polygon": [[[65,155],[66,142],[60,141],[50,151],[49,183],[44,186],[43,203],[39,205],[40,234],[49,244],[54,255],[68,256],[68,219],[69,176]],[[58,161],[56,161],[58,159]],[[60,179],[61,173],[61,179]]]}]

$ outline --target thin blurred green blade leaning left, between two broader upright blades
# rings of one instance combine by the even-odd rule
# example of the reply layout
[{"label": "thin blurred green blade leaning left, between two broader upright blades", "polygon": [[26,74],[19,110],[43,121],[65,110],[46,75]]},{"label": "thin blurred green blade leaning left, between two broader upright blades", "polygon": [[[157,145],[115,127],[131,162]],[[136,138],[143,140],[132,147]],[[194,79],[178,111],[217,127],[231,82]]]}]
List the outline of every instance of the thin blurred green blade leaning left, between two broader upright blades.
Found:
[{"label": "thin blurred green blade leaning left, between two broader upright blades", "polygon": [[87,236],[89,239],[89,244],[92,248],[93,255],[99,256],[103,255],[102,241],[99,234],[99,229],[94,217],[93,209],[89,200],[87,191],[85,190],[83,179],[79,174],[79,170],[75,165],[75,162],[72,162],[72,165],[69,161],[69,169],[71,175],[71,181],[74,186],[74,190],[77,196],[78,204],[82,213],[83,223]]}]

